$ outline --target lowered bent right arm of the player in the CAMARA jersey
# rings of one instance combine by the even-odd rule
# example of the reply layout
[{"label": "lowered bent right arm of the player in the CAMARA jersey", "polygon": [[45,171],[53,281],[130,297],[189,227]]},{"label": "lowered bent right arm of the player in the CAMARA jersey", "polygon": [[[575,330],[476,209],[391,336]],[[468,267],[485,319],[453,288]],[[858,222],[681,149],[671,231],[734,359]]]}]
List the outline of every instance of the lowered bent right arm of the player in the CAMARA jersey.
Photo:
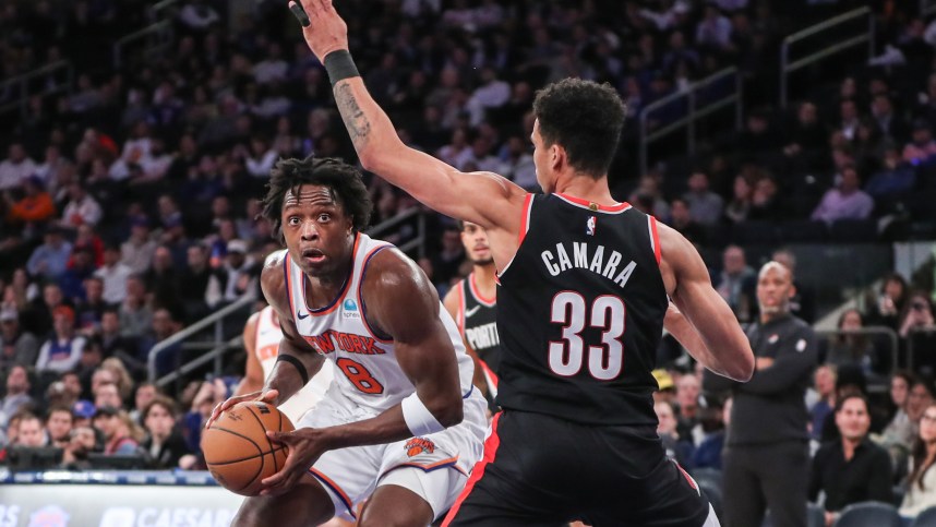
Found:
[{"label": "lowered bent right arm of the player in the CAMARA jersey", "polygon": [[[664,326],[709,370],[747,381],[754,352],[731,308],[711,287],[698,251],[682,235],[658,224],[660,271],[679,312],[668,312]],[[671,310],[672,311],[672,310]]]}]

